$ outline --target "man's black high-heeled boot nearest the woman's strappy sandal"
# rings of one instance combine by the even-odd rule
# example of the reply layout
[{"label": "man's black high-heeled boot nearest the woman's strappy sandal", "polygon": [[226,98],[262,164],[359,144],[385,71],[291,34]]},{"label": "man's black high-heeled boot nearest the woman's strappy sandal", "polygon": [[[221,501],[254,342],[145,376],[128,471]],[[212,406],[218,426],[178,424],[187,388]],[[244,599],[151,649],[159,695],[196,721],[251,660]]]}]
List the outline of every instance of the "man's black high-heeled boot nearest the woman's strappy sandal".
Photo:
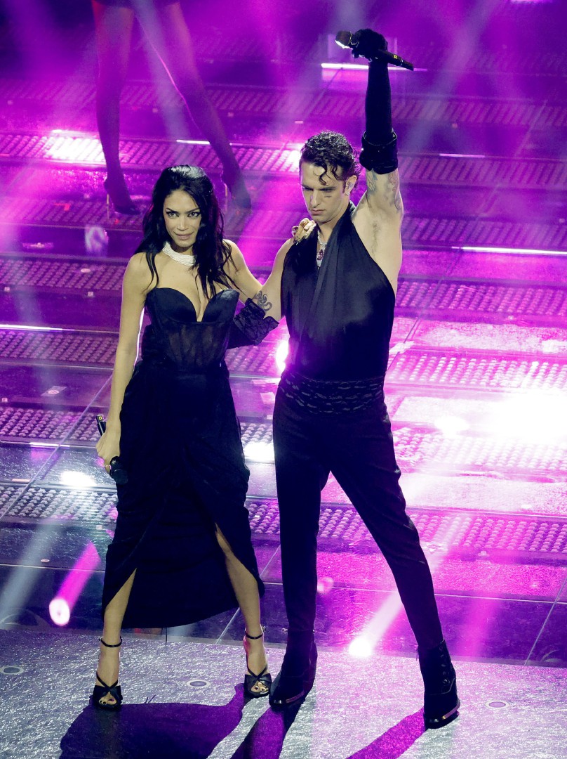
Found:
[{"label": "man's black high-heeled boot nearest the woman's strappy sandal", "polygon": [[290,632],[279,674],[270,691],[270,706],[283,709],[305,698],[315,682],[317,647],[313,633]]}]

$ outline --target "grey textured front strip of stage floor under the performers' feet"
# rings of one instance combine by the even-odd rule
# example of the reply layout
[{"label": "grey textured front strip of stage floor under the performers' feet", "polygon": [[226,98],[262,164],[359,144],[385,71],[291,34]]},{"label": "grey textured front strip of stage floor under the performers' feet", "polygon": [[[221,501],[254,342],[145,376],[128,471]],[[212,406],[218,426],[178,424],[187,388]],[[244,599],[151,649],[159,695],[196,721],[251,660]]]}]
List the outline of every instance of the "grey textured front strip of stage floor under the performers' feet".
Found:
[{"label": "grey textured front strip of stage floor under the performers' feet", "polygon": [[[565,670],[459,662],[461,716],[424,732],[415,660],[321,653],[305,703],[274,712],[243,696],[243,655],[227,644],[127,638],[119,713],[86,704],[96,638],[3,632],[13,657],[2,680],[5,759],[444,759],[562,757]],[[272,667],[282,651],[270,650]],[[61,664],[64,662],[64,672]],[[235,685],[236,684],[236,685]]]}]

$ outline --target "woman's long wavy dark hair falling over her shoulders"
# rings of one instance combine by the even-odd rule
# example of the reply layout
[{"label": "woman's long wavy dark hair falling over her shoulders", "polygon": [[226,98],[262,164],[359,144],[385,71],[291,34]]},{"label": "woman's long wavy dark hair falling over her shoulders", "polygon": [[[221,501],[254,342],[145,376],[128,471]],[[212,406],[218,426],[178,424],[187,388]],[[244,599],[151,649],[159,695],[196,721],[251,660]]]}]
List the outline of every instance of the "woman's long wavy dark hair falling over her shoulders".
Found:
[{"label": "woman's long wavy dark hair falling over her shoulders", "polygon": [[152,282],[155,277],[157,285],[159,277],[155,268],[155,256],[163,250],[166,242],[172,242],[165,228],[164,202],[176,190],[189,193],[199,206],[201,225],[192,253],[196,256],[203,291],[208,298],[212,298],[215,284],[234,287],[234,282],[224,272],[224,264],[230,259],[230,245],[223,239],[224,220],[215,188],[199,166],[170,166],[161,172],[152,191],[152,205],[144,216],[143,240],[135,252],[146,254]]}]

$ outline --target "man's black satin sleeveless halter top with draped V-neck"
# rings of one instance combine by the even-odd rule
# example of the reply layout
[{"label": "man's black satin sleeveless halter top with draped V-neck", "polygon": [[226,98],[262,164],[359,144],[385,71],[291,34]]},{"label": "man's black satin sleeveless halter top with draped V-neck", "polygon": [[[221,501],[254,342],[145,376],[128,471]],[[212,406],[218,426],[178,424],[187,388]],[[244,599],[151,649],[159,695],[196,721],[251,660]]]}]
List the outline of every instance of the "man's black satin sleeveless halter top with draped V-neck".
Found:
[{"label": "man's black satin sleeveless halter top with draped V-neck", "polygon": [[386,373],[396,298],[352,224],[354,209],[349,203],[337,222],[319,272],[315,234],[293,245],[284,262],[287,367],[310,379],[369,379]]}]

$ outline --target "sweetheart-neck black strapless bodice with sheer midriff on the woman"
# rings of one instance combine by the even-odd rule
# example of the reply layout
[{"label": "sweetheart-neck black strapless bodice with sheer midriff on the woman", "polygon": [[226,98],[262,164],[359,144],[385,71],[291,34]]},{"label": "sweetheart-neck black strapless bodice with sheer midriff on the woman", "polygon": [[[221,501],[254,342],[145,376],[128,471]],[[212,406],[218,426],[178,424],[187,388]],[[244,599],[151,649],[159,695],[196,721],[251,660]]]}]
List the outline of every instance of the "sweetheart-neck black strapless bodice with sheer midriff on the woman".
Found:
[{"label": "sweetheart-neck black strapless bodice with sheer midriff on the woman", "polygon": [[197,320],[193,303],[173,288],[156,287],[146,297],[152,323],[142,339],[142,358],[183,372],[208,372],[222,365],[237,309],[236,290],[221,290]]}]

